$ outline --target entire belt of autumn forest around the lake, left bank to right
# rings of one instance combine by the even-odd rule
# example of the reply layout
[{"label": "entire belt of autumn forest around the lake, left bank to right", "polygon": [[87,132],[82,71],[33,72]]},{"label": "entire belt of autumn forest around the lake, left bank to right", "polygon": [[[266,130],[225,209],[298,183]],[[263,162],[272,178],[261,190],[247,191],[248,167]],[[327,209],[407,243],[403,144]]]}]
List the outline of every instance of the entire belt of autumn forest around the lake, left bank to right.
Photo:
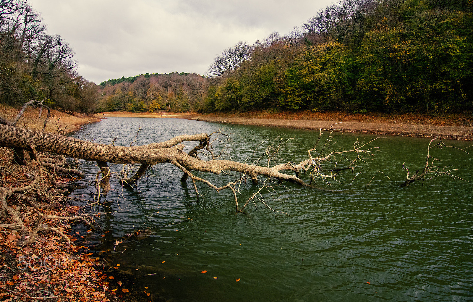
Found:
[{"label": "entire belt of autumn forest around the lake, left bank to right", "polygon": [[[144,74],[95,85],[23,0],[0,0],[0,102],[131,112],[473,110],[473,0],[341,0],[290,34],[219,53],[206,75]],[[303,21],[303,20],[301,20]]]}]

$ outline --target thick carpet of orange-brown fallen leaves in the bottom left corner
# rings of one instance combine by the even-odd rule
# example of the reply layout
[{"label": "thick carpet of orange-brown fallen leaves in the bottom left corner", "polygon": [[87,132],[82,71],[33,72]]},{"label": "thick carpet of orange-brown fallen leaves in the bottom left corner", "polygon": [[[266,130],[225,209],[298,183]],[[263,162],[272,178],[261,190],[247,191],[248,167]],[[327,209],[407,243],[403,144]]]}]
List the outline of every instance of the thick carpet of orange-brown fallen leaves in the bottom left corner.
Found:
[{"label": "thick carpet of orange-brown fallen leaves in the bottom left corner", "polygon": [[0,300],[110,301],[107,276],[96,269],[98,258],[74,254],[59,236],[47,235],[31,247],[17,247],[19,235],[0,233]]}]

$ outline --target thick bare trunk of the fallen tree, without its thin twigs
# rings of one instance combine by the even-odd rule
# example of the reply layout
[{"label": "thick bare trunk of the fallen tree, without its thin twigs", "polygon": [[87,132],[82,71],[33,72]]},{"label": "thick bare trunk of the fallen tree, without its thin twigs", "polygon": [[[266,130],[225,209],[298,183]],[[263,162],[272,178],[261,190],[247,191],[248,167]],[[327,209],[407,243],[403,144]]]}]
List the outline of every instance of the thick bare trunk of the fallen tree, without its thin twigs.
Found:
[{"label": "thick bare trunk of the fallen tree, without its thin twigs", "polygon": [[194,170],[214,174],[220,174],[225,170],[235,171],[249,175],[254,182],[257,181],[258,175],[262,175],[307,186],[307,184],[297,176],[280,172],[281,170],[298,171],[298,167],[290,163],[280,164],[274,167],[261,167],[232,160],[200,160],[183,151],[184,145],[180,144],[181,142],[200,142],[202,140],[208,140],[206,133],[179,135],[166,142],[134,147],[103,145],[72,137],[3,124],[0,124],[0,133],[2,133],[0,145],[10,148],[29,149],[30,144],[33,143],[36,151],[49,151],[83,160],[116,164],[140,163],[148,165],[167,162],[174,164],[180,169],[183,167],[187,171]]}]

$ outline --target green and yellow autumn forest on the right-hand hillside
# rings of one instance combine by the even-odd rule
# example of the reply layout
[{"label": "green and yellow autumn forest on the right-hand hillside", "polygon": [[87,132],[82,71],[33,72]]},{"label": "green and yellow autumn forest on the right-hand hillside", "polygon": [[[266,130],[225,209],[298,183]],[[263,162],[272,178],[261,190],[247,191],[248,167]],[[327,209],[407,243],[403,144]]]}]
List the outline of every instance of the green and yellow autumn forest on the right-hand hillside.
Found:
[{"label": "green and yellow autumn forest on the right-hand hillside", "polygon": [[472,110],[471,0],[341,0],[210,65],[202,111]]}]

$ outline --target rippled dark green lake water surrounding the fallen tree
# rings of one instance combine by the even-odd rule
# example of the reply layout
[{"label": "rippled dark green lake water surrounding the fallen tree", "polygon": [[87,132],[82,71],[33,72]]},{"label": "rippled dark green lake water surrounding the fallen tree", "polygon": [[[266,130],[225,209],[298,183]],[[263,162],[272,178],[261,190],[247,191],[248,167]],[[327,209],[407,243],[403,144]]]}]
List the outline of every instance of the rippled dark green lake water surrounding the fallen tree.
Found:
[{"label": "rippled dark green lake water surrounding the fallen tree", "polygon": [[[179,134],[212,133],[220,126],[115,117],[90,124],[74,136],[115,145],[130,145],[137,136],[138,144],[146,144]],[[229,154],[238,161],[251,161],[279,135],[294,137],[281,150],[279,163],[304,160],[318,134],[234,125],[229,132],[234,138]],[[357,137],[366,142],[373,138],[333,135],[338,136],[333,141],[346,148]],[[269,141],[255,152],[263,140]],[[472,301],[471,184],[440,177],[423,187],[399,186],[406,174],[403,162],[411,173],[421,169],[428,142],[379,138],[373,145],[381,151],[374,160],[354,172],[341,172],[330,185],[318,182],[304,188],[283,183],[277,195],[265,195],[290,216],[275,216],[261,203],[235,214],[231,192],[216,193],[202,185],[204,196],[197,203],[192,184],[180,182],[179,169],[157,165],[137,190],[113,183],[114,191],[107,196],[110,208],[99,209],[107,213],[101,223],[109,232],[97,232],[88,240],[101,240],[100,249],[110,249],[114,261],[135,277],[155,274],[136,279],[135,286],[146,286],[153,296],[168,301]],[[444,160],[442,164],[459,169],[457,176],[473,179],[471,155],[453,149],[432,152]],[[94,164],[84,163],[83,169],[95,178]],[[378,171],[383,173],[376,175]],[[220,185],[234,179],[201,176]],[[257,188],[246,184],[240,201]],[[115,239],[143,228],[154,234],[114,247]],[[207,273],[201,273],[204,270]]]}]

